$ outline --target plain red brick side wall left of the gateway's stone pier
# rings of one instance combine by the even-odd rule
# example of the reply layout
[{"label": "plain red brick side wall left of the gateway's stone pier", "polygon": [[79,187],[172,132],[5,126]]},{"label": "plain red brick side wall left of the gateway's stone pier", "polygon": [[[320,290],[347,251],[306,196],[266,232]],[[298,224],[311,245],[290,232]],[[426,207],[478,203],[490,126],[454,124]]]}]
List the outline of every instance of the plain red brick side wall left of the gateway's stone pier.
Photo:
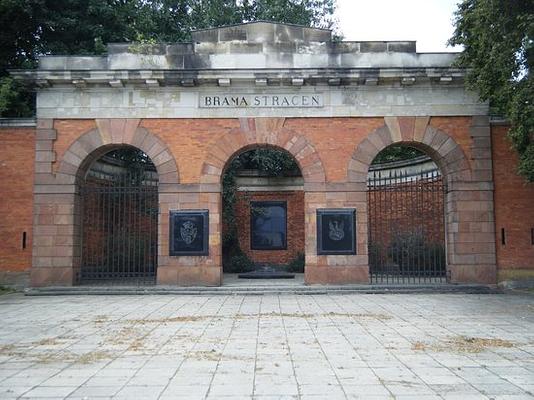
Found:
[{"label": "plain red brick side wall left of the gateway's stone pier", "polygon": [[0,128],[0,271],[31,267],[34,151],[34,128]]}]

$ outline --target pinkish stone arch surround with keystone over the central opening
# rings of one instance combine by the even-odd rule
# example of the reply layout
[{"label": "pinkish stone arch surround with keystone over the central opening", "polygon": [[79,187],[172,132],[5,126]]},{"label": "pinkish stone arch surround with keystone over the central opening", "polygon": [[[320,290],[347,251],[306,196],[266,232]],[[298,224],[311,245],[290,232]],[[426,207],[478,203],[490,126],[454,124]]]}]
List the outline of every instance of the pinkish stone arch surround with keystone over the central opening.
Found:
[{"label": "pinkish stone arch surround with keystone over the central opening", "polygon": [[200,183],[220,183],[232,158],[254,146],[273,146],[289,152],[297,161],[306,183],[324,183],[323,163],[305,136],[284,128],[285,118],[242,118],[235,129],[211,146],[202,165]]}]

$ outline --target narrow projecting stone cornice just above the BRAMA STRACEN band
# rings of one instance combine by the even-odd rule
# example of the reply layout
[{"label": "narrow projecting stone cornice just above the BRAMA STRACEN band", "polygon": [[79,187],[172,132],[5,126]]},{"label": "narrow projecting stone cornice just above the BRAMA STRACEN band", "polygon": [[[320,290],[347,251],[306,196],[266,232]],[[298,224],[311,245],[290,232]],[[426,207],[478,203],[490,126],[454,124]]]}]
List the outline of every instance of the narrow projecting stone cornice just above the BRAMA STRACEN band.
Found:
[{"label": "narrow projecting stone cornice just above the BRAMA STRACEN band", "polygon": [[145,86],[351,86],[433,83],[463,84],[465,70],[430,68],[294,68],[216,70],[13,70],[17,79],[37,87],[122,88]]}]

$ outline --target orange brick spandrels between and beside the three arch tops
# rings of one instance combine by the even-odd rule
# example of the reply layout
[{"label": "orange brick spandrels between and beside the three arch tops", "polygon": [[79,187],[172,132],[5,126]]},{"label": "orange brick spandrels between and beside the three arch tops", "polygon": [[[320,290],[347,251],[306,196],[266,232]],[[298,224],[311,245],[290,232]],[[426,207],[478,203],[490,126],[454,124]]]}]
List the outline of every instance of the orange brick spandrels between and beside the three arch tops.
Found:
[{"label": "orange brick spandrels between and beside the three arch tops", "polygon": [[[328,182],[344,182],[347,164],[357,145],[384,124],[383,118],[287,118],[284,128],[304,135],[324,165]],[[472,139],[469,117],[433,117],[430,126],[450,135],[469,158]],[[83,133],[94,129],[93,120],[55,120],[57,166],[66,149]],[[171,149],[180,169],[180,183],[198,183],[210,148],[222,137],[232,138],[239,119],[143,119],[141,127],[161,138]],[[231,140],[231,139],[230,139]],[[210,160],[208,160],[210,161]],[[223,160],[226,161],[226,160]]]}]

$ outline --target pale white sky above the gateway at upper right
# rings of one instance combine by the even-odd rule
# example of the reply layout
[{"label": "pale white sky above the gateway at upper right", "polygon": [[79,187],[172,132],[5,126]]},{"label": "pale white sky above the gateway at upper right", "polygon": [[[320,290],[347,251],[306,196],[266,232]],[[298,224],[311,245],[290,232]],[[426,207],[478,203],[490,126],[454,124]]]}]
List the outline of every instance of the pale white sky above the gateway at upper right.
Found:
[{"label": "pale white sky above the gateway at upper right", "polygon": [[460,51],[447,47],[459,0],[337,0],[344,40],[416,40],[418,52]]}]

